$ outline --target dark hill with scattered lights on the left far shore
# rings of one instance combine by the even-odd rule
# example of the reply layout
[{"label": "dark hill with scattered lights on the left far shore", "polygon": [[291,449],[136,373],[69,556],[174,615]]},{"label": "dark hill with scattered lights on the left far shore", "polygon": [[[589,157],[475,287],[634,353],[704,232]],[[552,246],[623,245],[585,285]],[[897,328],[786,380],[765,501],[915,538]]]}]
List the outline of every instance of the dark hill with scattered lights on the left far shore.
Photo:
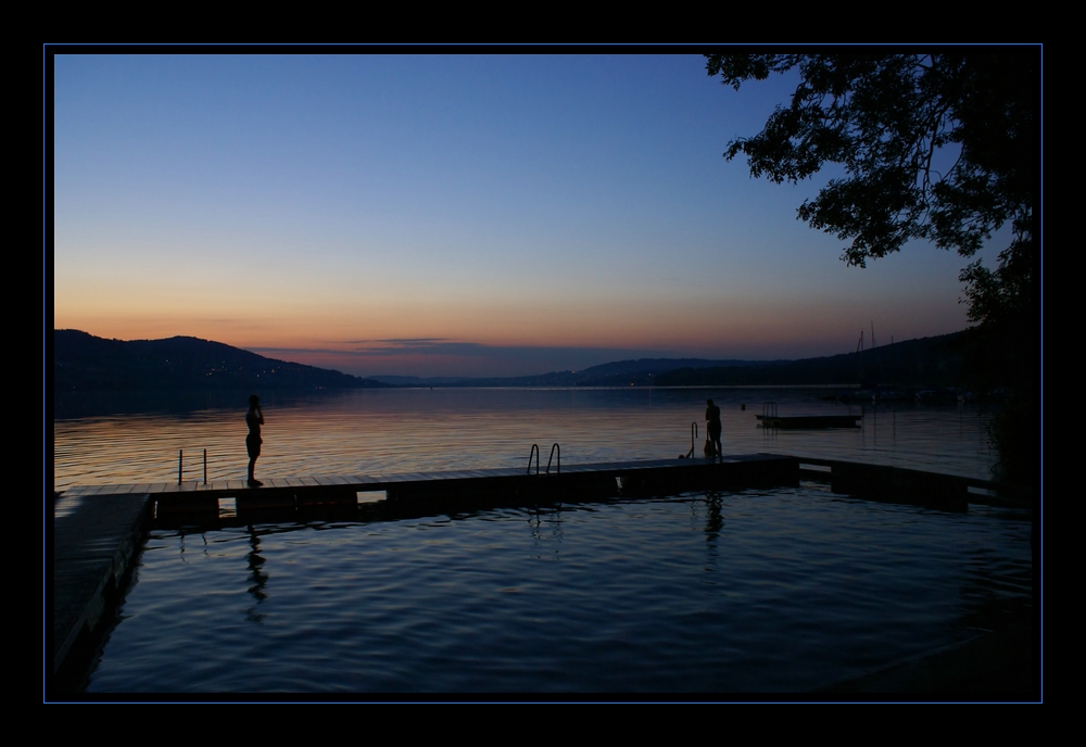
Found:
[{"label": "dark hill with scattered lights on the left far shore", "polygon": [[388,387],[325,368],[266,358],[222,342],[175,337],[106,340],[53,331],[54,392],[138,392]]}]

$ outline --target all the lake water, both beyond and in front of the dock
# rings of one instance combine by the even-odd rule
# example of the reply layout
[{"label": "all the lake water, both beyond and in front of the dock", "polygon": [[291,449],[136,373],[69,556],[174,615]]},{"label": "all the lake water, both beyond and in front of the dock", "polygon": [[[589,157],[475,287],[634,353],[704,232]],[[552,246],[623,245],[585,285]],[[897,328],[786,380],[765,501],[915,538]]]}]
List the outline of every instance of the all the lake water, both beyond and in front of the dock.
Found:
[{"label": "all the lake water, both beyond and in front of the dock", "polygon": [[[975,410],[882,406],[859,430],[755,427],[768,396],[782,415],[848,412],[817,394],[269,397],[257,471],[518,466],[532,442],[553,441],[567,463],[675,456],[712,396],[725,453],[987,477]],[[209,448],[213,480],[240,478],[243,415],[242,404],[58,421],[58,486],[176,479],[178,448]],[[944,514],[806,483],[396,522],[157,529],[87,691],[806,691],[1021,616],[1030,556],[1021,511]]]}]

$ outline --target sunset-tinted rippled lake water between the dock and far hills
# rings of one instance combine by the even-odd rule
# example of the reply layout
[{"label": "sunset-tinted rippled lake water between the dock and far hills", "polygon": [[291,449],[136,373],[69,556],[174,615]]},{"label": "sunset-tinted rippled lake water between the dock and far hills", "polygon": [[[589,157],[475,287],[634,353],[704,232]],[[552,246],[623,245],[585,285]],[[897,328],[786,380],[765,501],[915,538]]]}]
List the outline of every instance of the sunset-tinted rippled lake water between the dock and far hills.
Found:
[{"label": "sunset-tinted rippled lake water between the dock and far hills", "polygon": [[[969,406],[908,402],[867,407],[859,429],[756,428],[754,406],[782,415],[847,414],[823,390],[570,389],[356,390],[319,397],[265,397],[261,456],[269,477],[375,474],[522,466],[532,443],[560,443],[568,464],[673,458],[707,396],[721,408],[725,453],[773,452],[856,459],[987,479],[986,416]],[[176,482],[178,451],[209,453],[209,479],[241,480],[244,402],[182,415],[56,420],[56,490],[73,484]],[[697,444],[695,457],[702,444]],[[192,473],[186,479],[201,479]]]}]

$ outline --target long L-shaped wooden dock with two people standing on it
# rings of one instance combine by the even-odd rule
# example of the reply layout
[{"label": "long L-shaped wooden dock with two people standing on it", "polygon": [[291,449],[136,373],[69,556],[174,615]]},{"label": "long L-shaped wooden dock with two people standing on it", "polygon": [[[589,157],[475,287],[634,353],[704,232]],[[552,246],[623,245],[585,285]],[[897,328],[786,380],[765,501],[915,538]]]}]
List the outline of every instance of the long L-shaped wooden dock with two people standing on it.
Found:
[{"label": "long L-shaped wooden dock with two people standing on it", "polygon": [[510,468],[274,478],[261,488],[249,488],[242,480],[79,485],[54,502],[53,531],[47,536],[53,671],[80,641],[97,634],[151,519],[164,526],[214,521],[224,516],[224,504],[236,521],[261,521],[275,514],[281,520],[282,515],[329,507],[396,519],[488,506],[788,486],[798,485],[801,478],[829,482],[835,493],[946,510],[964,510],[969,502],[1006,501],[996,495],[994,483],[983,480],[770,454],[569,465],[551,473]]}]

